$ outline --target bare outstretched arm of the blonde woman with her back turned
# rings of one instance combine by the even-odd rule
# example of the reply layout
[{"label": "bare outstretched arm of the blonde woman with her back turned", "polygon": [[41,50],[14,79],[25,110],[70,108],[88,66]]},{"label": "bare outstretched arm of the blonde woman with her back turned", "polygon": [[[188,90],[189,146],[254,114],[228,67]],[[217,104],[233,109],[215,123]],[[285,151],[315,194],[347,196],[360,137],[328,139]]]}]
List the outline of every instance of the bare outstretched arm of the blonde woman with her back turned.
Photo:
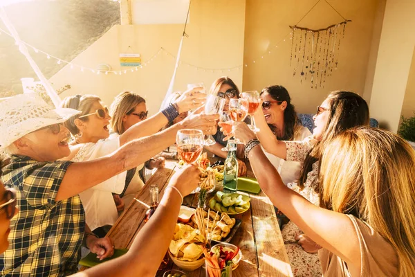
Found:
[{"label": "bare outstretched arm of the blonde woman with her back turned", "polygon": [[[244,143],[248,142],[244,139],[245,136],[240,136],[240,131],[241,129],[235,128],[235,137]],[[356,247],[359,245],[358,236],[347,215],[317,207],[287,188],[260,147],[253,148],[248,158],[259,186],[274,206],[277,206],[314,242],[335,253],[348,265],[360,268],[360,250]]]}]

